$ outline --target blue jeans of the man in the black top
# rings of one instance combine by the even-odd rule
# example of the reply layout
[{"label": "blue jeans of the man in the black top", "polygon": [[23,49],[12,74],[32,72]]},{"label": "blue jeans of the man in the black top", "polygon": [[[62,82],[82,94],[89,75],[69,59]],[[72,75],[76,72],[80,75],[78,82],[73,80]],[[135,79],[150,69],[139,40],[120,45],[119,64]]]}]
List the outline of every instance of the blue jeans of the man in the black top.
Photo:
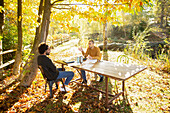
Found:
[{"label": "blue jeans of the man in the black top", "polygon": [[74,73],[72,71],[65,71],[65,69],[63,71],[62,68],[57,68],[57,69],[59,71],[59,75],[58,75],[57,79],[67,78],[64,84],[68,85],[69,82],[74,77]]}]

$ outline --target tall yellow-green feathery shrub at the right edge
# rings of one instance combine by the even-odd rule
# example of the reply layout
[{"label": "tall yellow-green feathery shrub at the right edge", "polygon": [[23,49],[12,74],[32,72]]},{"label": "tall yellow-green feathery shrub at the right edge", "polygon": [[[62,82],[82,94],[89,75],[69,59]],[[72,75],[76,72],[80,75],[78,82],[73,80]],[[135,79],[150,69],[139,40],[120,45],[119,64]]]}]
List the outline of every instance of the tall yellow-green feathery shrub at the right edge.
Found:
[{"label": "tall yellow-green feathery shrub at the right edge", "polygon": [[[137,32],[135,34],[135,27],[133,28],[133,41],[129,41],[127,47],[124,49],[126,54],[132,55],[136,59],[140,59],[145,61],[147,64],[152,64],[151,67],[159,68],[165,72],[170,72],[170,53],[168,51],[169,41],[166,39],[164,42],[166,43],[164,46],[159,45],[158,53],[154,51],[150,46],[147,46],[148,41],[145,40],[145,37],[149,36],[149,32],[153,31],[152,28],[146,27],[146,29],[141,32]],[[155,52],[156,54],[156,62],[154,59],[151,59],[151,53]],[[161,65],[161,66],[160,66]]]}]

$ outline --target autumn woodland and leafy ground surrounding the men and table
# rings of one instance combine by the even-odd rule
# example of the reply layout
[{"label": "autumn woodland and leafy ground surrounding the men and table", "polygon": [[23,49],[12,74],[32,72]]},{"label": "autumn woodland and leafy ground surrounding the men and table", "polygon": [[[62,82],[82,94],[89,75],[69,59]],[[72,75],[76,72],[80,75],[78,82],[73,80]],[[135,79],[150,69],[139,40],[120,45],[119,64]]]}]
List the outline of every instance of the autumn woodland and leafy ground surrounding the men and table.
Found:
[{"label": "autumn woodland and leafy ground surrounding the men and table", "polygon": [[[169,6],[168,0],[1,0],[1,112],[169,112]],[[126,82],[126,101],[119,98],[109,109],[104,95],[74,83],[72,92],[57,90],[53,99],[44,93],[38,44],[47,42],[49,57],[62,60],[81,55],[77,48],[85,50],[89,39],[103,60],[123,55],[148,67]],[[104,83],[92,84],[103,89]]]}]

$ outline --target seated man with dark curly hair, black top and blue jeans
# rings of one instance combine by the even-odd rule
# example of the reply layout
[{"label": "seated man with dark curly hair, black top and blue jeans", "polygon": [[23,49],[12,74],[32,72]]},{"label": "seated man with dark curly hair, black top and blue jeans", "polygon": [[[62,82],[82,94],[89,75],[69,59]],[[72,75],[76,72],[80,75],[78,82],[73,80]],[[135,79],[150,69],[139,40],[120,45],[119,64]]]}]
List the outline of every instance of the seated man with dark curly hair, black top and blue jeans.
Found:
[{"label": "seated man with dark curly hair, black top and blue jeans", "polygon": [[61,68],[56,68],[56,66],[53,64],[50,58],[47,57],[47,55],[50,54],[50,47],[46,43],[41,43],[38,46],[38,51],[40,55],[38,56],[38,65],[41,65],[43,67],[46,67],[51,75],[53,75],[53,80],[61,79],[61,78],[67,78],[65,81],[65,85],[67,88],[67,85],[74,77],[74,73],[72,71],[62,71]]}]

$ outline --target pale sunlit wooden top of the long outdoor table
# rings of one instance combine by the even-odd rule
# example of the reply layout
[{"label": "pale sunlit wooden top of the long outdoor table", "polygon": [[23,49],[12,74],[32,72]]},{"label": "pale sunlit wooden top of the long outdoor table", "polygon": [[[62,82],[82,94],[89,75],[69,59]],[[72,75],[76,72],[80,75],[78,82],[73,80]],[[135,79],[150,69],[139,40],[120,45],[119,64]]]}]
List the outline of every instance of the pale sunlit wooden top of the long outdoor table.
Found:
[{"label": "pale sunlit wooden top of the long outdoor table", "polygon": [[82,64],[70,63],[68,66],[83,69],[85,71],[100,74],[117,80],[127,80],[137,73],[145,70],[147,67],[135,64],[124,64],[110,61],[90,61],[87,60]]}]

